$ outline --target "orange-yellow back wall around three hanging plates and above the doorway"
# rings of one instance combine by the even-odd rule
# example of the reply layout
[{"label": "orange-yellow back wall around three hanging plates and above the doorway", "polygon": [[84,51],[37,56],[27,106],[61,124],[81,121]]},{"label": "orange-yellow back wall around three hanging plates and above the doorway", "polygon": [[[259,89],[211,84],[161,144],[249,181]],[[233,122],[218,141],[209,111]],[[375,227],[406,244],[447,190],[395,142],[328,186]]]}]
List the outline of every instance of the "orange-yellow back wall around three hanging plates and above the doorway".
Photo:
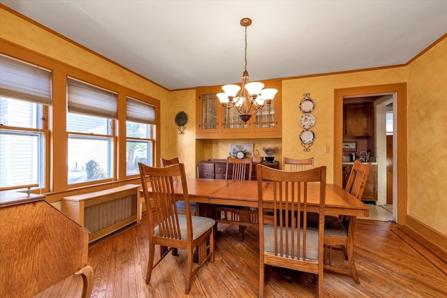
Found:
[{"label": "orange-yellow back wall around three hanging plates and above the doorway", "polygon": [[[328,167],[328,183],[333,183],[334,158],[334,90],[370,86],[406,81],[404,68],[390,68],[383,70],[367,70],[356,73],[343,73],[338,75],[323,75],[305,77],[283,81],[283,155],[291,158],[315,158],[315,165]],[[300,100],[303,93],[310,93],[315,102],[312,114],[315,117],[315,125],[312,130],[315,133],[315,141],[310,152],[302,151],[300,144],[301,126],[298,124],[302,112],[300,112]],[[325,153],[324,147],[330,146],[330,152]]]}]

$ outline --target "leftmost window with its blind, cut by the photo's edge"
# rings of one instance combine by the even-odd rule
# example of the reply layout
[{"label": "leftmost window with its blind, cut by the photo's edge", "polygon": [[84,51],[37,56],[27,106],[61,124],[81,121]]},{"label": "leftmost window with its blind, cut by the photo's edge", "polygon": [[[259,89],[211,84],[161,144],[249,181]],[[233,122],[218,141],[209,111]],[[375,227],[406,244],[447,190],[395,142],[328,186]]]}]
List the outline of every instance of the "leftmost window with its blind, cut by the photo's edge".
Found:
[{"label": "leftmost window with its blind, cut by the photo's edge", "polygon": [[47,188],[51,72],[0,54],[0,187]]}]

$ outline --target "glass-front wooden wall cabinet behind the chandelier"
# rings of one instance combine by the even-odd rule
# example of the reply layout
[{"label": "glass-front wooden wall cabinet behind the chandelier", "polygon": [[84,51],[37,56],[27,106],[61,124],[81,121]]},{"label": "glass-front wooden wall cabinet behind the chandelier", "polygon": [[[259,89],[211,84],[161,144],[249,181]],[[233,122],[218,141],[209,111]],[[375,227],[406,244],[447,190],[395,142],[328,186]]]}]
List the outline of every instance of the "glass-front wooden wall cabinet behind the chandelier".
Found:
[{"label": "glass-front wooden wall cabinet behind the chandelier", "polygon": [[196,139],[244,139],[281,137],[281,81],[264,82],[264,88],[276,88],[272,103],[244,123],[237,114],[222,107],[217,94],[221,86],[196,89]]}]

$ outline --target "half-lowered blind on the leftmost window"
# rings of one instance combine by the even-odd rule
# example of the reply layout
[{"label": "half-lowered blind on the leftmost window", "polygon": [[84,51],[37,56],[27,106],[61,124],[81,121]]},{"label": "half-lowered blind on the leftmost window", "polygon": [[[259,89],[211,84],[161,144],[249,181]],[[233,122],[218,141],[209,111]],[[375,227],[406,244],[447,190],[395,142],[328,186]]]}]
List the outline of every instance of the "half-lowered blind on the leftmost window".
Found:
[{"label": "half-lowered blind on the leftmost window", "polygon": [[51,71],[0,54],[0,96],[51,105]]}]

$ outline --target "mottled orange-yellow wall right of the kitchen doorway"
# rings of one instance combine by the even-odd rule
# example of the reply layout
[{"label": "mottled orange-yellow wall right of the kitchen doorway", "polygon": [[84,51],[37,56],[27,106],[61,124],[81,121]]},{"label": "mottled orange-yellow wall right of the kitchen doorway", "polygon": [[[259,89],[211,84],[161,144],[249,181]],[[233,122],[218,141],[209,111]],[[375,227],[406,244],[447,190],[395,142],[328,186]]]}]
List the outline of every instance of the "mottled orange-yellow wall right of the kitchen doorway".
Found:
[{"label": "mottled orange-yellow wall right of the kitchen doorway", "polygon": [[447,38],[408,68],[408,214],[447,234]]}]

